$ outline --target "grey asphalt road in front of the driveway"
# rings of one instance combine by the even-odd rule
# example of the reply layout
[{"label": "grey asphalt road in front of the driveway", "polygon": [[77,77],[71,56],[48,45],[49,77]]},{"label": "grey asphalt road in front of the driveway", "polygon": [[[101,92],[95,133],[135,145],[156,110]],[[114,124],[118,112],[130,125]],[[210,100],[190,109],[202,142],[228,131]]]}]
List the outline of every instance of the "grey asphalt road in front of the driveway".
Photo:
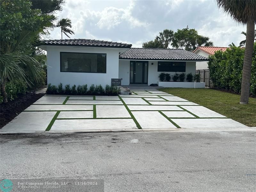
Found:
[{"label": "grey asphalt road in front of the driveway", "polygon": [[106,192],[255,191],[255,136],[251,131],[2,135],[1,177],[103,179]]}]

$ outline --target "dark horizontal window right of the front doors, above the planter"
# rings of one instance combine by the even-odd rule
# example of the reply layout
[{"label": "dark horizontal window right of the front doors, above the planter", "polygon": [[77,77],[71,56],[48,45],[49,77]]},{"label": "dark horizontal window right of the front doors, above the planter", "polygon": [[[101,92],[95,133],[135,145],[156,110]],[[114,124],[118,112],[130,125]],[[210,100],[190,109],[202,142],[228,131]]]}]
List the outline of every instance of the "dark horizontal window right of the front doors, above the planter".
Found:
[{"label": "dark horizontal window right of the front doors, above the planter", "polygon": [[158,61],[157,71],[160,71],[160,72],[185,72],[186,71],[186,62]]}]

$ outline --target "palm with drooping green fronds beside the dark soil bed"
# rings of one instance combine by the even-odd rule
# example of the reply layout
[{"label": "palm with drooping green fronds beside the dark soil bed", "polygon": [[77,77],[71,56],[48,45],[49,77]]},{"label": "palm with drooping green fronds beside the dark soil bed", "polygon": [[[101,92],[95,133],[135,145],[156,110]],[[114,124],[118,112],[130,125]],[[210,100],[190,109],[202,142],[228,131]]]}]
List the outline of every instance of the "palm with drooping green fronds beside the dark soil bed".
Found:
[{"label": "palm with drooping green fronds beside the dark soil bed", "polygon": [[5,91],[6,82],[15,82],[16,79],[20,79],[31,86],[30,80],[38,83],[41,79],[41,65],[33,57],[35,52],[33,44],[36,44],[38,39],[39,32],[23,31],[17,39],[17,44],[8,43],[1,46],[0,76],[4,103],[8,102]]}]

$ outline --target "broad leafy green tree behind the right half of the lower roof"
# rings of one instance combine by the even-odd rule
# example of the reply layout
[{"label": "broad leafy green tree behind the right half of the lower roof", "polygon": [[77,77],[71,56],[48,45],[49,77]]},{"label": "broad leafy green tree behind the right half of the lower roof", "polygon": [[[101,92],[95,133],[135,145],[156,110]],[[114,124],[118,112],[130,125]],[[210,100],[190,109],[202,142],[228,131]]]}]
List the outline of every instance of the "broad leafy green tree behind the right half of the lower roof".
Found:
[{"label": "broad leafy green tree behind the right half of the lower roof", "polygon": [[190,29],[188,26],[178,29],[173,36],[172,46],[175,48],[193,51],[198,46],[213,46],[213,42],[207,36],[198,35],[196,29]]}]

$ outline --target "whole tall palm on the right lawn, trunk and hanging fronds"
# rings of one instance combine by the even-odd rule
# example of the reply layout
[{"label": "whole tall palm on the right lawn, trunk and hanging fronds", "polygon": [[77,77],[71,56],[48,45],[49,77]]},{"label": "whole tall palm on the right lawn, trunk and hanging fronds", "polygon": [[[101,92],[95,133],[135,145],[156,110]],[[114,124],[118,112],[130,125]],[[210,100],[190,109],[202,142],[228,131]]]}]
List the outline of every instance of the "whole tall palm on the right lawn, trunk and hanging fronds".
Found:
[{"label": "whole tall palm on the right lawn, trunk and hanging fronds", "polygon": [[218,7],[228,13],[236,22],[246,24],[246,41],[242,74],[240,103],[249,102],[254,28],[256,23],[256,1],[254,0],[216,0]]}]

